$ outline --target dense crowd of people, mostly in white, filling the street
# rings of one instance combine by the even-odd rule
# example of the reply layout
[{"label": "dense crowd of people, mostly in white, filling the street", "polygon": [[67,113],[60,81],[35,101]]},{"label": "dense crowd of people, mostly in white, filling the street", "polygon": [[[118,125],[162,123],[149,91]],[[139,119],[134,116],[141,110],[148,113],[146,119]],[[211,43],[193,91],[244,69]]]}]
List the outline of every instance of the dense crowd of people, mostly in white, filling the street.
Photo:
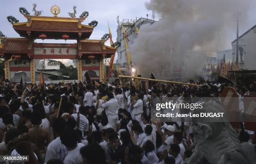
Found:
[{"label": "dense crowd of people, mostly in white, filling the street", "polygon": [[[255,80],[197,84],[202,86],[152,83],[136,89],[130,81],[97,86],[4,81],[0,155],[29,155],[31,164],[183,164],[196,146],[192,123],[152,121],[156,104],[218,99],[228,86],[241,102],[256,93]],[[253,144],[245,130],[237,137]]]}]

